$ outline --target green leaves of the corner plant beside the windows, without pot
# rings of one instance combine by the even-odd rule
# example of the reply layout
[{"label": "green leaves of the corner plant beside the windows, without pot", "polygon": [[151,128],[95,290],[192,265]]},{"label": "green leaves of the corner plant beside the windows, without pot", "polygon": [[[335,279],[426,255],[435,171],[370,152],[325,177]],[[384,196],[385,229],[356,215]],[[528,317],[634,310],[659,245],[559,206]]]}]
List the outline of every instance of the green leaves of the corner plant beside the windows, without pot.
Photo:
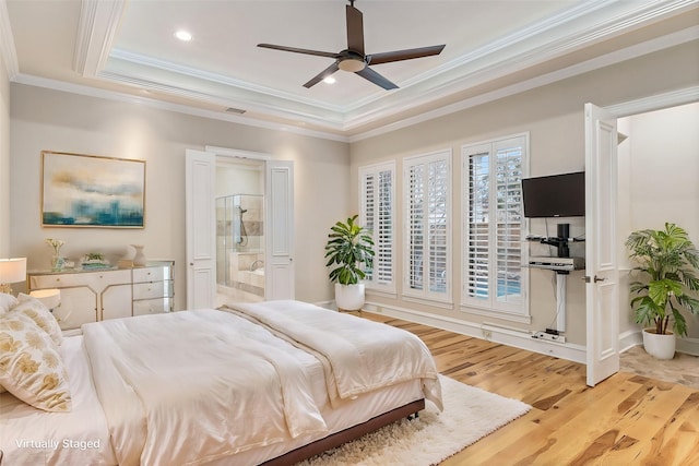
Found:
[{"label": "green leaves of the corner plant beside the windows, without pot", "polygon": [[374,264],[374,239],[356,220],[357,215],[346,223],[337,222],[328,235],[325,265],[336,265],[330,271],[330,280],[341,285],[356,285],[366,278],[362,264],[367,268]]}]

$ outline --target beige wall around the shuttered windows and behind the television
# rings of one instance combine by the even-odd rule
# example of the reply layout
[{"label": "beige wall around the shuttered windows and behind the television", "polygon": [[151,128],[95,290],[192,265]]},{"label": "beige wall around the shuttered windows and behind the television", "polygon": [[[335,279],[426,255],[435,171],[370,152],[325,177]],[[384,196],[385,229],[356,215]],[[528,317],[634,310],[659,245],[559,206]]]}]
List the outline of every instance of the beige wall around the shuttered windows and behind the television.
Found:
[{"label": "beige wall around the shuttered windows and behind the television", "polygon": [[[699,83],[699,58],[697,41],[674,47],[657,53],[629,60],[576,77],[567,79],[544,87],[506,97],[489,104],[473,107],[410,128],[396,130],[352,144],[352,199],[357,202],[357,168],[379,160],[395,159],[399,174],[398,198],[402,193],[400,178],[402,159],[406,156],[451,147],[453,151],[453,258],[460,263],[460,154],[461,145],[507,136],[521,132],[530,133],[530,176],[542,176],[584,168],[584,119],[583,105],[592,101],[599,106],[609,106],[639,99],[668,91],[696,86]],[[356,207],[355,207],[356,208]],[[399,202],[399,218],[395,225],[403,225],[402,204]],[[549,220],[549,231],[555,232],[555,223]],[[584,232],[582,219],[571,222],[571,235]],[[544,234],[543,220],[532,220],[530,229]],[[553,230],[552,230],[553,229]],[[402,231],[398,232],[399,251]],[[582,248],[581,246],[579,248]],[[571,254],[574,252],[571,251]],[[582,250],[581,250],[582,254]],[[398,308],[417,309],[445,318],[481,323],[484,319],[459,309],[460,271],[452,271],[452,309],[419,306],[400,297],[400,271],[402,258],[398,258],[399,296],[369,295],[368,300]],[[585,298],[581,272],[568,279],[567,336],[573,344],[584,345]],[[512,322],[500,323],[528,330],[543,330],[555,318],[555,287],[552,273],[532,271],[530,276],[530,312],[532,324]],[[498,322],[496,319],[485,319]]]}]

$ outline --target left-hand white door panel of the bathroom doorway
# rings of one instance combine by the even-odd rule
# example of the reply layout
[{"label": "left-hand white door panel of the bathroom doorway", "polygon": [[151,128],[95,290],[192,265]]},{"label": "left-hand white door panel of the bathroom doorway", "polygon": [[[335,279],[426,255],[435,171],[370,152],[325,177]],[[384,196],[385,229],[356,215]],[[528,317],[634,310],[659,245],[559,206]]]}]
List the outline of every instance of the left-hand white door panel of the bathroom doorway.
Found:
[{"label": "left-hand white door panel of the bathroom doorway", "polygon": [[213,308],[216,301],[216,156],[185,154],[187,309]]}]

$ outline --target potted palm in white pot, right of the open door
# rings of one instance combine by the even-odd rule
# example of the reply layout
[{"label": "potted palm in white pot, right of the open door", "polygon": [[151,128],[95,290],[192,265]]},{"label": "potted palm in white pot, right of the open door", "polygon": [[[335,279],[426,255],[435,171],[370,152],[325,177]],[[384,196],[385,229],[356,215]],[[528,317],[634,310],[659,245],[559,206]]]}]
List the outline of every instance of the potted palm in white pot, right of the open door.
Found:
[{"label": "potted palm in white pot, right of the open door", "polygon": [[652,325],[643,330],[643,347],[659,359],[672,359],[675,335],[687,335],[683,312],[699,312],[699,251],[687,231],[670,223],[663,230],[633,231],[626,246],[639,264],[631,272],[640,275],[630,284],[631,294],[638,295],[631,309],[637,323]]}]

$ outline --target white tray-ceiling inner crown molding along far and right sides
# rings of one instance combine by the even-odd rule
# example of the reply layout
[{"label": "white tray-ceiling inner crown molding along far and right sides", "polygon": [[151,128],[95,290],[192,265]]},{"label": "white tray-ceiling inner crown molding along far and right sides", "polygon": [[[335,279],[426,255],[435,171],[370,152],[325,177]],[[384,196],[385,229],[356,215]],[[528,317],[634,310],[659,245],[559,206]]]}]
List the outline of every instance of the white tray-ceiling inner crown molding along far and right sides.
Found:
[{"label": "white tray-ceiling inner crown molding along far and right sides", "polygon": [[[347,106],[333,106],[120,49],[111,50],[105,62],[106,68],[98,70],[96,76],[185,98],[221,103],[275,118],[325,127],[331,131],[350,132],[390,118],[391,115],[410,111],[435,99],[696,8],[696,0],[640,4],[613,0],[583,2],[401,83],[401,88],[391,94],[374,95]],[[597,20],[601,11],[607,12],[612,17]],[[112,14],[110,19],[114,24],[116,15]],[[573,22],[574,27],[571,27]],[[197,91],[178,85],[176,82],[182,76],[196,83]],[[437,84],[430,84],[429,80],[437,81]]]}]

